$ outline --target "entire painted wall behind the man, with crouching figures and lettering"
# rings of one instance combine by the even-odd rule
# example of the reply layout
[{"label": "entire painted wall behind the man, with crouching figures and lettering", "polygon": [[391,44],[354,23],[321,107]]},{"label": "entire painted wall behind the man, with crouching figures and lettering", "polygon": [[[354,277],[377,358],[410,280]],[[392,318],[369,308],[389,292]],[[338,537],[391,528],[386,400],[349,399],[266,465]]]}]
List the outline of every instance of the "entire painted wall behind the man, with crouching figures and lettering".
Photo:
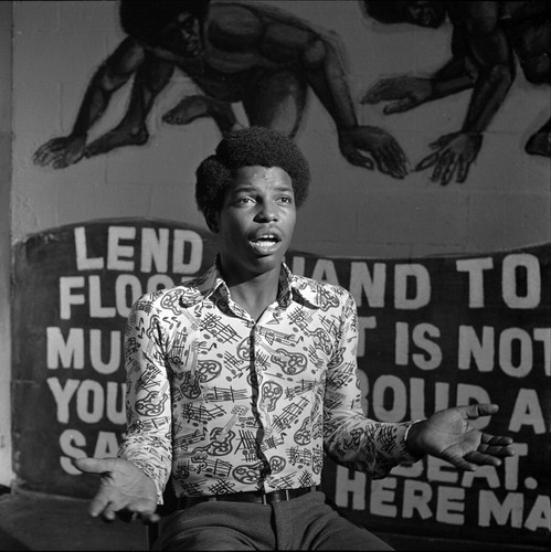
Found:
[{"label": "entire painted wall behind the man, with crouching figures and lettering", "polygon": [[[91,495],[96,480],[72,459],[114,455],[125,431],[130,305],[210,265],[211,236],[193,224],[192,171],[222,134],[262,125],[300,140],[312,161],[314,206],[299,237],[348,247],[297,247],[289,261],[354,295],[365,413],[402,421],[494,401],[501,414],[491,429],[518,444],[505,466],[476,476],[430,460],[369,481],[328,464],[328,496],[371,528],[545,545],[551,226],[540,198],[549,199],[550,102],[541,91],[550,84],[551,3],[35,8],[55,28],[46,4],[72,21],[81,10],[72,3],[113,28],[94,33],[78,21],[95,47],[78,36],[85,45],[66,57],[66,36],[40,34],[34,12],[15,7],[31,30],[15,36],[25,67],[14,92],[12,403],[22,486]],[[348,20],[337,18],[343,4]],[[410,49],[406,33],[417,41]],[[41,64],[49,78],[31,95]],[[527,193],[497,198],[502,189]],[[508,232],[509,245],[519,227],[530,243],[484,250]],[[468,254],[467,235],[484,253]],[[439,255],[412,254],[415,242]],[[364,253],[365,243],[385,254]]]}]

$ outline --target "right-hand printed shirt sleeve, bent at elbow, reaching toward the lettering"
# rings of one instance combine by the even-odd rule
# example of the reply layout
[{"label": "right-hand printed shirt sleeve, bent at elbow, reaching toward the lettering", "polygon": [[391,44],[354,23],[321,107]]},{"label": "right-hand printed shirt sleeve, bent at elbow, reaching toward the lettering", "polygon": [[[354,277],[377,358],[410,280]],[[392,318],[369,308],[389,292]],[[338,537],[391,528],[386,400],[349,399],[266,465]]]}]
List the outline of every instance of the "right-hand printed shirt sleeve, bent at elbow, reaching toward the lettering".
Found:
[{"label": "right-hand printed shirt sleeve, bent at elbow, reaching toward the lettering", "polygon": [[380,479],[394,466],[418,459],[405,446],[413,422],[375,422],[364,416],[357,362],[358,311],[352,295],[346,289],[340,293],[342,311],[326,381],[324,446],[337,464]]}]

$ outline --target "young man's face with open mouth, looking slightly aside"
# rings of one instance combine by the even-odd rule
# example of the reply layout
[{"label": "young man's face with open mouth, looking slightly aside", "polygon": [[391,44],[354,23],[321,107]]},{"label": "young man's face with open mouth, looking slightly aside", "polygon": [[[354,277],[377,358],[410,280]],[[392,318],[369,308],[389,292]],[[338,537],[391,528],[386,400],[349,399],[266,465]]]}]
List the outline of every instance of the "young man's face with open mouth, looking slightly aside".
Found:
[{"label": "young man's face with open mouth, looking slightly aside", "polygon": [[296,222],[292,179],[279,167],[242,167],[213,216],[230,285],[279,270]]}]

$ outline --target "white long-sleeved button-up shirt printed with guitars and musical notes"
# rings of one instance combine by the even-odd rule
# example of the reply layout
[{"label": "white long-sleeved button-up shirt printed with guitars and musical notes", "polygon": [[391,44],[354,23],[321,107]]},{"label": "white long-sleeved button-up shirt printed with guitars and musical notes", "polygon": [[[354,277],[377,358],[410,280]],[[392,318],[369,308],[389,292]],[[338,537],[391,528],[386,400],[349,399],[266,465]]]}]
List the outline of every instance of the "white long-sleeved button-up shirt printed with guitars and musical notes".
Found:
[{"label": "white long-sleeved button-up shirt printed with guitars and musical notes", "polygon": [[410,423],[368,420],[358,316],[342,287],[293,275],[255,321],[214,264],[140,297],[125,336],[127,435],[119,456],[158,488],[221,495],[320,482],[324,454],[369,474],[411,461]]}]

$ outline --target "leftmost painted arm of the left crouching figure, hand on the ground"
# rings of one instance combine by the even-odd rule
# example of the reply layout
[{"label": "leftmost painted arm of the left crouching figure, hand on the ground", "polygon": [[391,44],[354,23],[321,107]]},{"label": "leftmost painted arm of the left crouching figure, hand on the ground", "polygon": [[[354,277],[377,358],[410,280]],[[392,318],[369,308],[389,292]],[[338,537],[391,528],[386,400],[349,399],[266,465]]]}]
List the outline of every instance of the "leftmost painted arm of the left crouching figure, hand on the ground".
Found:
[{"label": "leftmost painted arm of the left crouching figure, hand on the ground", "polygon": [[128,82],[144,59],[144,49],[133,39],[125,39],[92,77],[71,134],[41,146],[33,156],[34,163],[62,169],[80,161],[85,155],[89,129],[104,115],[113,94]]}]

